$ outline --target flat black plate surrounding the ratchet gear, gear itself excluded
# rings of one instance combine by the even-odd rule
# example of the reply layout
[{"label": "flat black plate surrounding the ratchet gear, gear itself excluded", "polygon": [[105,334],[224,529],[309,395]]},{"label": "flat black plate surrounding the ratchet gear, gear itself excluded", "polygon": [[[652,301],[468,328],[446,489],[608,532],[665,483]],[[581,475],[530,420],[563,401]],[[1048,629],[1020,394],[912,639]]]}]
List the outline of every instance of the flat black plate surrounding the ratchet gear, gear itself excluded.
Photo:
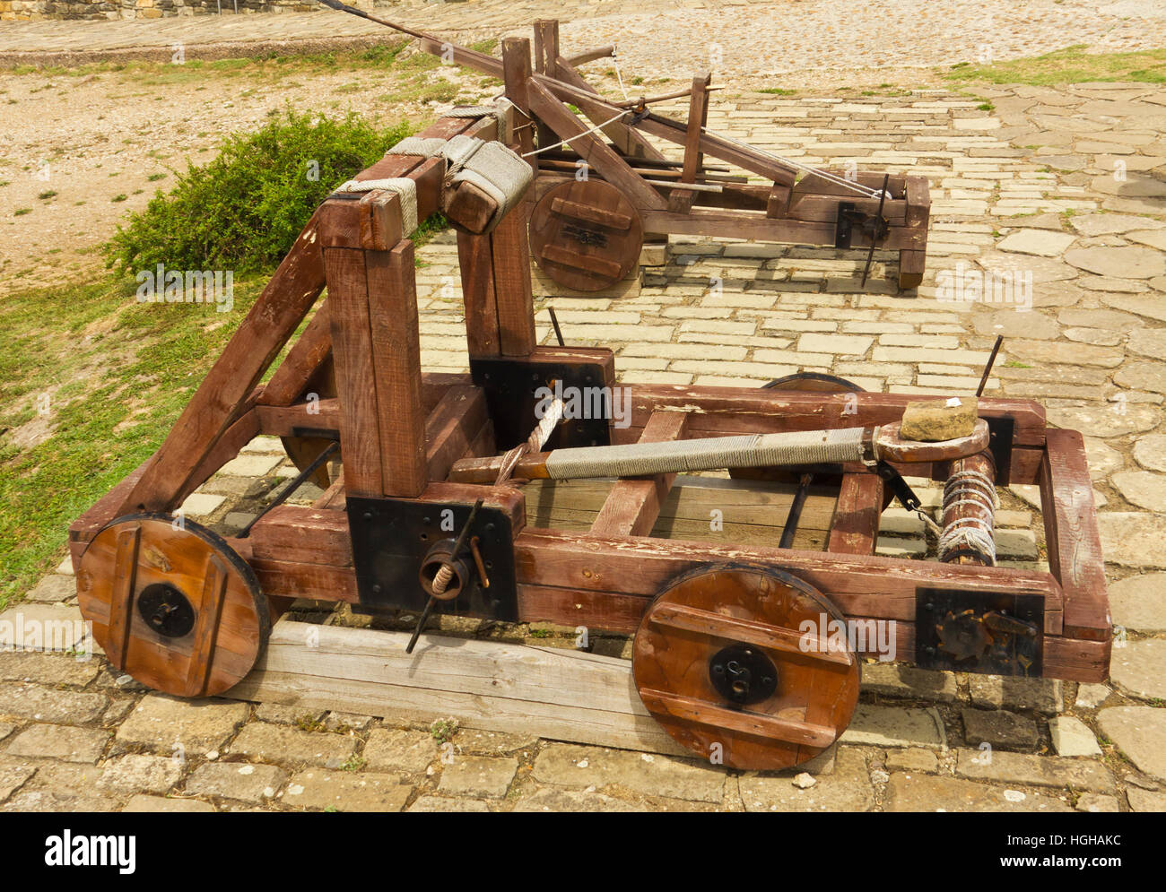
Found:
[{"label": "flat black plate surrounding the ratchet gear, gear itself excluded", "polygon": [[[993,632],[995,642],[978,659],[956,660],[941,649],[939,626],[948,613],[972,610],[982,617],[990,611],[1037,627],[1035,638]],[[915,665],[920,669],[950,669],[986,675],[1038,676],[1044,667],[1045,599],[1040,595],[967,591],[963,589],[915,589]]]}]

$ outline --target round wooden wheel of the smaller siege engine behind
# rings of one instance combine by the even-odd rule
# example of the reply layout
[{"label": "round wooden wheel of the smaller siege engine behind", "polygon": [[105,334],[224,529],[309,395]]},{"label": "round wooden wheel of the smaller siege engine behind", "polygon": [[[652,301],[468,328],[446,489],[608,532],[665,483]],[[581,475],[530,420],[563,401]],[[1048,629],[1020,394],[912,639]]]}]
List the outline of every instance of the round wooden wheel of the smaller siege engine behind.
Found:
[{"label": "round wooden wheel of the smaller siege engine behind", "polygon": [[531,253],[559,285],[598,292],[640,260],[644,226],[632,203],[602,180],[560,183],[531,212]]}]

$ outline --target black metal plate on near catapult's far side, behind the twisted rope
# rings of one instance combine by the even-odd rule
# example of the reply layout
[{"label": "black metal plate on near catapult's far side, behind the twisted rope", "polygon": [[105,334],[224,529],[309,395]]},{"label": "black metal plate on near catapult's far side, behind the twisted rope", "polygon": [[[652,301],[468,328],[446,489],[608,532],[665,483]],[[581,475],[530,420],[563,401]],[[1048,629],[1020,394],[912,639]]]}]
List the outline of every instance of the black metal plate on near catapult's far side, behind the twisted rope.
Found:
[{"label": "black metal plate on near catapult's far side, behind the twisted rope", "polygon": [[[604,386],[603,366],[598,363],[532,363],[526,359],[487,357],[470,360],[473,382],[486,394],[486,406],[494,422],[494,442],[499,450],[511,449],[531,436],[539,423],[534,408],[538,405],[535,391],[550,381],[562,381],[563,391],[578,388],[581,393],[595,393],[585,388]],[[611,393],[602,401],[600,417],[564,417],[550,435],[545,447],[564,449],[568,447],[610,445],[611,443]]]}]

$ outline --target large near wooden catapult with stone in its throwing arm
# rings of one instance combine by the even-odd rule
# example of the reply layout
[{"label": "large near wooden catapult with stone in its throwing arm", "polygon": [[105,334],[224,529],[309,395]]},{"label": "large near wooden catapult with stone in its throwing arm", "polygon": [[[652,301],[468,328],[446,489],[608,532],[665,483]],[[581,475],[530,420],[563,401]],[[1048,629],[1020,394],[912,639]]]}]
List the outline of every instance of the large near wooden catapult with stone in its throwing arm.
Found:
[{"label": "large near wooden catapult with stone in its throwing arm", "polygon": [[[738,768],[788,767],[837,740],[864,656],[1104,679],[1083,441],[1047,429],[1039,403],[984,399],[970,433],[922,442],[902,436],[908,398],[841,379],[620,387],[610,350],[538,345],[522,110],[559,105],[527,41],[503,52],[514,107],[443,118],[331,195],[163,445],[70,528],[80,607],[110,662],[173,695],[220,694],[296,598],[419,617],[416,633],[437,611],[634,633],[644,707],[683,747]],[[614,227],[563,202],[596,239]],[[469,374],[421,370],[408,236],[438,210],[457,229]],[[573,394],[599,410],[570,409]],[[298,477],[233,538],[183,519],[183,500],[258,435],[283,438]],[[714,525],[653,535],[674,487],[705,479],[677,473],[714,469],[732,475],[718,482],[726,503],[781,493],[766,508],[784,515],[779,542]],[[891,499],[919,507],[904,472],[946,484],[942,560],[874,554]],[[282,504],[309,478],[326,486],[311,507]],[[532,522],[531,493],[577,480],[605,487],[584,528]],[[996,563],[995,487],[1009,483],[1040,486],[1049,573]],[[798,539],[808,499],[828,504],[816,545]],[[856,627],[893,631],[895,652],[837,633]],[[423,668],[429,653],[412,659]]]}]

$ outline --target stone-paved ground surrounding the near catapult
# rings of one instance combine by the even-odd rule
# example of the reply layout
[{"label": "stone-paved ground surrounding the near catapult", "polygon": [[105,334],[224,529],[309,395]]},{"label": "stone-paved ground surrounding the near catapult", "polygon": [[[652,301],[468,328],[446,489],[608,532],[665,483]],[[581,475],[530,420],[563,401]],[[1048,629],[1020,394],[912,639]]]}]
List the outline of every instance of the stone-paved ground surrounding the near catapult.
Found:
[{"label": "stone-paved ground surrounding the near catapult", "polygon": [[[711,115],[716,129],[810,163],[926,173],[933,225],[918,295],[895,296],[879,278],[859,290],[861,252],[674,239],[619,294],[553,303],[568,342],[613,347],[625,381],[753,386],[813,370],[870,389],[963,394],[1005,335],[989,393],[1042,399],[1052,423],[1087,436],[1119,626],[1108,684],[868,665],[854,724],[802,788],[788,775],[466,729],[443,763],[427,728],[393,716],[181,702],[99,658],[7,653],[2,807],[1166,808],[1166,96],[1114,83],[981,92],[752,93],[719,99]],[[454,246],[430,244],[422,258],[422,363],[464,368]],[[1031,275],[1031,309],[953,300],[969,271]],[[548,293],[540,283],[543,323]],[[293,472],[279,442],[261,438],[184,512],[237,531]],[[922,494],[934,510],[937,490]],[[1002,556],[1047,568],[1039,494],[1014,486],[1002,499]],[[916,519],[886,513],[880,553],[927,549]],[[68,574],[65,563],[0,620],[77,617]],[[352,621],[301,607],[300,619]]]}]

